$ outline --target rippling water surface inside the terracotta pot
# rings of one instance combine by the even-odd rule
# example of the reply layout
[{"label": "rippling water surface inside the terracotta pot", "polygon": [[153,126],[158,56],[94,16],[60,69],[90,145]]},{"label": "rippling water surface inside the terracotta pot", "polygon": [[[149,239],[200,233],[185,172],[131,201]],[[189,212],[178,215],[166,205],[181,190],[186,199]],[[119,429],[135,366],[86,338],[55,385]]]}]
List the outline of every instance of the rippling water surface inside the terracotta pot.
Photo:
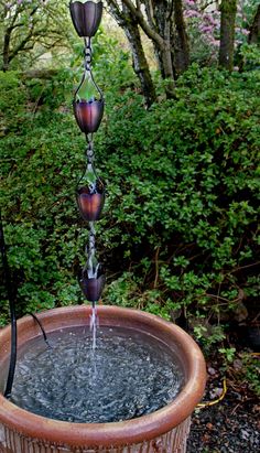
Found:
[{"label": "rippling water surface inside the terracotta pot", "polygon": [[128,420],[154,412],[180,392],[173,352],[149,334],[101,327],[65,328],[29,342],[18,360],[12,402],[40,416],[80,423]]}]

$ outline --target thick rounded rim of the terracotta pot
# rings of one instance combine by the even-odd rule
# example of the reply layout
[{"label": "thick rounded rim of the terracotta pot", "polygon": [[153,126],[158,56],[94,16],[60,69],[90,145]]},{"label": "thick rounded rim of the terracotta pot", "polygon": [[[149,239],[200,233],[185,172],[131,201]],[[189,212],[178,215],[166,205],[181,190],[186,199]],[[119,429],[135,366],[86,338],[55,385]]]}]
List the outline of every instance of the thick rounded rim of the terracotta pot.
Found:
[{"label": "thick rounded rim of the terracotta pot", "polygon": [[[74,305],[41,312],[37,316],[43,324],[46,323],[44,327],[47,333],[69,326],[86,325],[85,320],[88,320],[90,310],[91,308],[87,305]],[[45,442],[77,445],[79,447],[86,445],[102,445],[106,447],[139,443],[158,438],[171,431],[191,416],[203,397],[206,382],[205,360],[194,339],[175,324],[139,310],[99,305],[98,315],[100,325],[102,325],[101,321],[107,321],[104,325],[113,326],[122,326],[122,321],[124,321],[123,324],[128,327],[131,327],[132,323],[132,328],[134,326],[138,328],[138,324],[140,326],[143,324],[150,328],[150,332],[153,332],[155,327],[165,337],[170,336],[174,339],[178,355],[182,355],[180,359],[184,365],[186,364],[187,368],[184,369],[187,371],[186,384],[177,397],[162,409],[140,418],[109,423],[72,423],[36,416],[13,405],[0,393],[0,424],[2,423],[21,435]],[[112,324],[109,324],[109,321]],[[19,320],[18,328],[25,331],[28,339],[39,335],[37,326],[35,326],[31,316]],[[31,332],[30,336],[29,331]],[[154,334],[154,336],[160,339],[159,334]],[[0,332],[0,345],[7,345],[8,342],[10,342],[10,326]],[[2,360],[7,357],[7,350],[2,354]]]}]

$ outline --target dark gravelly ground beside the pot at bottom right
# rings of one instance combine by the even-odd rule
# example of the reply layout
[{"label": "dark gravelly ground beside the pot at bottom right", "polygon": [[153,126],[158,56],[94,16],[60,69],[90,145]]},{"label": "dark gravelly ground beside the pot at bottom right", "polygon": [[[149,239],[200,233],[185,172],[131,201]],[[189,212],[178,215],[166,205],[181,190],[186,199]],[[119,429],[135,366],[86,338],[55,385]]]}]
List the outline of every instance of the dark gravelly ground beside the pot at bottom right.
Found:
[{"label": "dark gravelly ground beside the pot at bottom right", "polygon": [[[208,395],[209,390],[206,391]],[[258,452],[260,405],[256,396],[241,396],[239,391],[228,388],[221,401],[195,411],[187,453]]]}]

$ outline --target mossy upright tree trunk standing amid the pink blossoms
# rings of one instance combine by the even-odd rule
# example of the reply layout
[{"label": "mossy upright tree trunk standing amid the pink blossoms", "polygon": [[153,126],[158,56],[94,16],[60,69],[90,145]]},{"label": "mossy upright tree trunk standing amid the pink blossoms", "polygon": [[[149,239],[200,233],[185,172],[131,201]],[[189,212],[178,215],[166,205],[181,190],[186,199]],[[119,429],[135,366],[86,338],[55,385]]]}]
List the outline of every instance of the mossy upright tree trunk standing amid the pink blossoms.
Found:
[{"label": "mossy upright tree trunk standing amid the pink blossoms", "polygon": [[220,12],[220,47],[218,63],[219,66],[232,71],[237,0],[223,0]]}]

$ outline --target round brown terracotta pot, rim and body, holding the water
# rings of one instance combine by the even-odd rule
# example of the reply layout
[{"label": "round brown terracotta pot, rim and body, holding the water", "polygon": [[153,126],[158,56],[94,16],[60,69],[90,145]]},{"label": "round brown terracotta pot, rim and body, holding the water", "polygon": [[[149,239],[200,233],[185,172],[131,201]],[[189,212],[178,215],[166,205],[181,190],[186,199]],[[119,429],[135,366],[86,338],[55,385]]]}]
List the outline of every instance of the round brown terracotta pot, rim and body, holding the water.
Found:
[{"label": "round brown terracotta pot, rim and body, holding the water", "polygon": [[[69,306],[39,315],[46,332],[86,325],[89,306]],[[137,419],[116,423],[69,423],[28,412],[0,395],[0,452],[4,453],[184,453],[191,414],[205,387],[205,363],[195,342],[158,316],[115,306],[98,308],[100,326],[131,327],[175,350],[185,384],[175,400]],[[31,316],[18,322],[19,347],[40,335]],[[10,327],[0,333],[0,369],[7,369]],[[129,364],[131,366],[131,364]],[[7,373],[6,373],[7,374]],[[3,382],[1,384],[3,387]]]}]

